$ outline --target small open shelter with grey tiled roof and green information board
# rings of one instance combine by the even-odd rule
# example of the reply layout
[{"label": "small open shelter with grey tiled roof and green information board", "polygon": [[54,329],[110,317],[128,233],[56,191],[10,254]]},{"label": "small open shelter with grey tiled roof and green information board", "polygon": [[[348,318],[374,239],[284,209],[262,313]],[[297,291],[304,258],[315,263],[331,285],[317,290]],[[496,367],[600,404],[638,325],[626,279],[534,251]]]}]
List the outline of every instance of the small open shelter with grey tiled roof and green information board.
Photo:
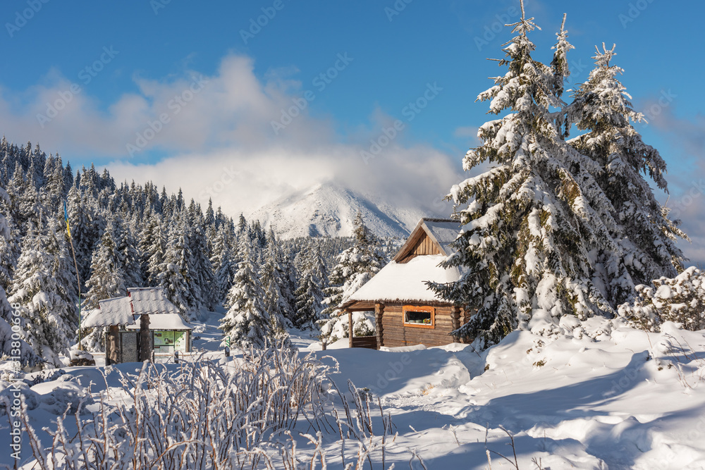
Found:
[{"label": "small open shelter with grey tiled roof and green information board", "polygon": [[156,353],[190,352],[191,327],[161,287],[130,287],[125,297],[98,302],[82,328],[108,327],[106,365],[144,361]]}]

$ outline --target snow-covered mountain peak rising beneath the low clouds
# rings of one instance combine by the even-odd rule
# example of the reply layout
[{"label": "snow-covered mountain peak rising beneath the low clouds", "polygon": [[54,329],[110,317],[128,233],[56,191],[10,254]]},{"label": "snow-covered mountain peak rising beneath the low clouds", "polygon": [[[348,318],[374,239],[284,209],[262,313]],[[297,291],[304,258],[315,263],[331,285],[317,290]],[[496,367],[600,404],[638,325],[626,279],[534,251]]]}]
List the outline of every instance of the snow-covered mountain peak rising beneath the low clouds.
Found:
[{"label": "snow-covered mountain peak rising beneath the low clouds", "polygon": [[283,238],[349,236],[353,220],[362,212],[364,223],[380,237],[406,237],[420,218],[436,216],[422,209],[399,209],[335,183],[323,183],[290,194],[246,215],[264,228],[274,225]]}]

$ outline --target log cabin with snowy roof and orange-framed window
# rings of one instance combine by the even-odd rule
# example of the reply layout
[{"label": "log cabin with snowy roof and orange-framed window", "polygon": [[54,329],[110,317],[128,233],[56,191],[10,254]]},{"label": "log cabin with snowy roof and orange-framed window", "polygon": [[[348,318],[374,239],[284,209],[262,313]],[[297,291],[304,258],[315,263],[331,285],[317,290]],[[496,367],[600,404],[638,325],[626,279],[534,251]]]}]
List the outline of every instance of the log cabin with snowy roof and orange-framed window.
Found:
[{"label": "log cabin with snowy roof and orange-framed window", "polygon": [[[459,231],[457,221],[439,218],[419,221],[393,260],[341,306],[350,318],[350,347],[379,349],[460,342],[450,333],[465,324],[469,316],[462,307],[436,297],[426,284],[460,279],[458,268],[439,267],[453,253],[450,243]],[[374,337],[353,337],[353,311],[374,311]]]}]

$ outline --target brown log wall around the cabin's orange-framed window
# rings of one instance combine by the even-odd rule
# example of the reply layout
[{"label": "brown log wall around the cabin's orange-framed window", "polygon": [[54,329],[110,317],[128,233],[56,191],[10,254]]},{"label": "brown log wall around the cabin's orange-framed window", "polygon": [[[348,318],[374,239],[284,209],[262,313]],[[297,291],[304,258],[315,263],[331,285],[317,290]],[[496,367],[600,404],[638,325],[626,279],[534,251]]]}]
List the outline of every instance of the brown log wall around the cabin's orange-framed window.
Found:
[{"label": "brown log wall around the cabin's orange-framed window", "polygon": [[449,334],[453,330],[453,320],[450,317],[453,307],[436,307],[436,328],[433,329],[405,326],[402,307],[402,304],[384,305],[381,318],[384,346],[442,346],[453,342],[453,337]]}]

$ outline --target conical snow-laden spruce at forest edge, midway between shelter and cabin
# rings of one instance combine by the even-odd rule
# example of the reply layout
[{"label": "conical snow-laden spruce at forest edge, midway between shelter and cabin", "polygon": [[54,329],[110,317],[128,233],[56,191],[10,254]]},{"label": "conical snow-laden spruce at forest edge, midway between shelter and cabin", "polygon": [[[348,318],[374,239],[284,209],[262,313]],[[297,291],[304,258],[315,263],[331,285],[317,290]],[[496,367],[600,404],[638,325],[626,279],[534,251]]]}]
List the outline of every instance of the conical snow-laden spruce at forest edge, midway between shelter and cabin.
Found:
[{"label": "conical snow-laden spruce at forest edge, midway between shelter and cabin", "polygon": [[238,264],[235,282],[228,292],[228,313],[220,322],[223,336],[230,338],[238,347],[263,348],[267,341],[274,340],[269,313],[264,308],[264,290],[252,264],[252,252],[247,237],[241,237],[240,252],[243,261]]}]

